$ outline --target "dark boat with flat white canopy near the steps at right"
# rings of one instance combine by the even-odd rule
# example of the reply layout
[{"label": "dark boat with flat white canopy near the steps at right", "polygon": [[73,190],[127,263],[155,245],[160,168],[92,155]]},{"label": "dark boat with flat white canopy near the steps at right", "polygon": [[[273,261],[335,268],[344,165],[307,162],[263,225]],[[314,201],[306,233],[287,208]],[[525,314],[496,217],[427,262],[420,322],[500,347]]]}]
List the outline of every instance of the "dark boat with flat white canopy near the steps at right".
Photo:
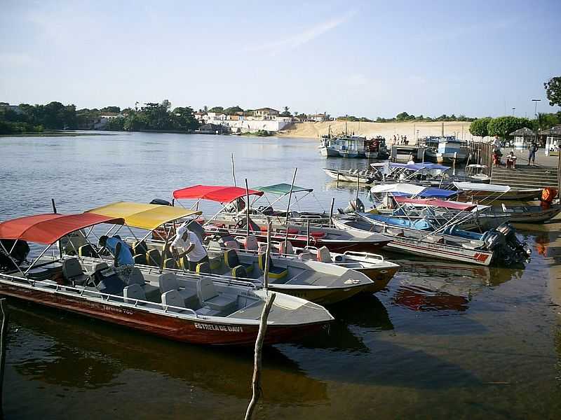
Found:
[{"label": "dark boat with flat white canopy near the steps at right", "polygon": [[511,188],[498,184],[473,182],[454,182],[454,188],[459,191],[459,197],[464,200],[534,200],[541,196],[542,188]]}]

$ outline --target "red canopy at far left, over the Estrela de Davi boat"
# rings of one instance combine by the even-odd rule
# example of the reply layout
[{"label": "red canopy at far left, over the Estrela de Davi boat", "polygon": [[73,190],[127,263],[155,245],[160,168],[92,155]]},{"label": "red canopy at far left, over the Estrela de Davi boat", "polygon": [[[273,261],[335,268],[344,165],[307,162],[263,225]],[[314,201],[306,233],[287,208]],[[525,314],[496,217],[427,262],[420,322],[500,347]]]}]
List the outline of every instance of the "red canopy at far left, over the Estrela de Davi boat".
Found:
[{"label": "red canopy at far left, over the Estrela de Davi boat", "polygon": [[81,214],[36,214],[0,223],[0,239],[22,239],[39,244],[53,244],[70,232],[98,223],[123,224],[122,218]]}]

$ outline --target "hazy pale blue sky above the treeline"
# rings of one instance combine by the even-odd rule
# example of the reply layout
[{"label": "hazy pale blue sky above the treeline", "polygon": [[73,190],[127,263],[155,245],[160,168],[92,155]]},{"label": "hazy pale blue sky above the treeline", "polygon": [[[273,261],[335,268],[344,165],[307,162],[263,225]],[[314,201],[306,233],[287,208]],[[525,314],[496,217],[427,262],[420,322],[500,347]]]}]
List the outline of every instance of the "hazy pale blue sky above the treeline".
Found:
[{"label": "hazy pale blue sky above the treeline", "polygon": [[561,1],[0,0],[0,101],[532,116]]}]

